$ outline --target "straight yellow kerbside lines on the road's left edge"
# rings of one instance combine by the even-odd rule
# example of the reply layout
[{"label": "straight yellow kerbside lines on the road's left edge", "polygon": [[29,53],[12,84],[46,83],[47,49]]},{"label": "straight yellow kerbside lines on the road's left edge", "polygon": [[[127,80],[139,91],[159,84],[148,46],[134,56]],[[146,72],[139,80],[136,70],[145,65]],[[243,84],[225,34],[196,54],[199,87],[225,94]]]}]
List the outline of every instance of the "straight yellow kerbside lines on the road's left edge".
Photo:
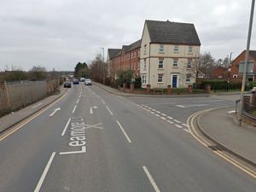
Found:
[{"label": "straight yellow kerbside lines on the road's left edge", "polygon": [[57,99],[55,102],[52,102],[51,104],[49,104],[48,107],[41,109],[42,111],[40,111],[39,113],[36,113],[35,115],[32,115],[31,117],[26,119],[26,121],[24,123],[22,123],[21,125],[17,125],[17,127],[15,127],[13,130],[6,132],[5,134],[3,134],[3,136],[0,136],[0,142],[3,141],[3,139],[5,139],[6,137],[9,137],[15,131],[18,131],[22,126],[26,125],[28,122],[32,121],[32,119],[37,118],[40,114],[44,113],[49,108],[53,107],[55,105],[55,103],[60,102],[61,99],[64,98],[65,96],[67,96],[67,92],[63,96],[61,96],[59,99]]}]

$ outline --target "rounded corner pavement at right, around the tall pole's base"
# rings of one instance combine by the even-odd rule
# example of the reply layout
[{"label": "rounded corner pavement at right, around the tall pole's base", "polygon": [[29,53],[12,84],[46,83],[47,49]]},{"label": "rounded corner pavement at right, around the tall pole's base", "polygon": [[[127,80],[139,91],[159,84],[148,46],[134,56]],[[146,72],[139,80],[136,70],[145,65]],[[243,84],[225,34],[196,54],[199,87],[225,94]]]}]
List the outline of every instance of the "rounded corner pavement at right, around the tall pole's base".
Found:
[{"label": "rounded corner pavement at right, around the tall pole's base", "polygon": [[201,131],[232,154],[256,166],[256,128],[238,125],[235,108],[217,108],[198,119]]}]

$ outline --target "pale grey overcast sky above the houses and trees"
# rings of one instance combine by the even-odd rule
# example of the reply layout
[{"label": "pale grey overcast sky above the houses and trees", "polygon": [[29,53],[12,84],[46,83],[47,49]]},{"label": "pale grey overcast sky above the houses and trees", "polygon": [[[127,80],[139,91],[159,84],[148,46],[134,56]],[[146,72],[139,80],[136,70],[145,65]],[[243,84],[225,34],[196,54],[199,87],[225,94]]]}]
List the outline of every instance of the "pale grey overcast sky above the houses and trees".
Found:
[{"label": "pale grey overcast sky above the houses and trees", "polygon": [[73,70],[101,47],[106,58],[108,48],[140,39],[144,20],[194,23],[201,53],[236,57],[246,49],[250,8],[251,0],[0,0],[0,70]]}]

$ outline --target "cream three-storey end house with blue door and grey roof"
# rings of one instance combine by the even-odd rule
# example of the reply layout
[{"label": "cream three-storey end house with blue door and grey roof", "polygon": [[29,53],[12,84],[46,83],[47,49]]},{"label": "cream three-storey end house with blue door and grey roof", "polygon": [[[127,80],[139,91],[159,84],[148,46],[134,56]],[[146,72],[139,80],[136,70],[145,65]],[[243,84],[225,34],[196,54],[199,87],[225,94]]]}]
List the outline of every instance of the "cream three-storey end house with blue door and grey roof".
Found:
[{"label": "cream three-storey end house with blue door and grey roof", "polygon": [[140,51],[142,86],[183,88],[195,83],[200,46],[193,24],[145,20]]}]

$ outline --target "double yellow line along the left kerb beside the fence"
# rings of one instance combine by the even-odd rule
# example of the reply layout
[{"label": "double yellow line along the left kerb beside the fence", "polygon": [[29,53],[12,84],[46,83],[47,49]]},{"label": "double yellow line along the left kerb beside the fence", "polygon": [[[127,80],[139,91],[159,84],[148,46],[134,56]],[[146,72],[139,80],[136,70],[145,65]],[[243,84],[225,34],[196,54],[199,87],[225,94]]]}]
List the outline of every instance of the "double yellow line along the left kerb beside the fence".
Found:
[{"label": "double yellow line along the left kerb beside the fence", "polygon": [[55,103],[60,102],[61,99],[64,98],[65,96],[67,96],[67,92],[63,96],[55,100],[55,102],[50,103],[46,107],[40,109],[37,113],[34,113],[28,118],[22,120],[20,123],[10,128],[8,131],[3,132],[3,134],[0,136],[0,142],[3,141],[3,139],[5,139],[6,137],[9,137],[10,135],[12,135],[15,131],[18,131],[22,126],[26,125],[28,122],[32,121],[32,119],[37,118],[40,114],[44,113],[46,110],[48,110],[53,105],[55,105]]}]

